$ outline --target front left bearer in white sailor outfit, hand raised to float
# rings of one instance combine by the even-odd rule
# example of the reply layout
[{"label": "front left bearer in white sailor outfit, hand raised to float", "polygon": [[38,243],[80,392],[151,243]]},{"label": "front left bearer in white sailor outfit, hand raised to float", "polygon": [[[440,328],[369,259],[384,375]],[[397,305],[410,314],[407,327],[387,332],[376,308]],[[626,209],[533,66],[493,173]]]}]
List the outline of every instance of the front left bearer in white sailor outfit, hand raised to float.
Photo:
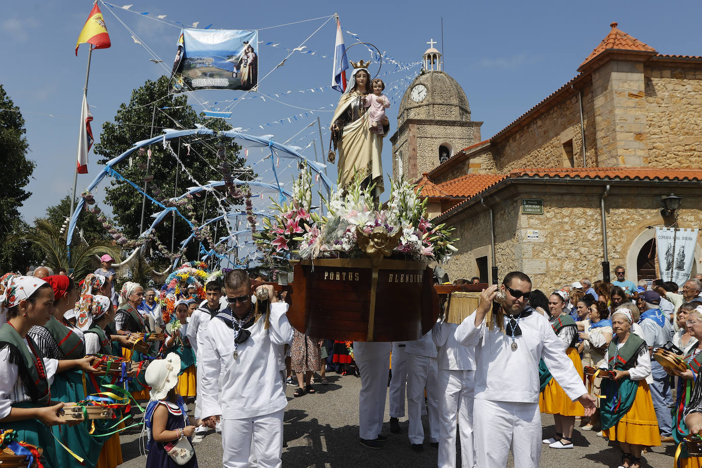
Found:
[{"label": "front left bearer in white sailor outfit, hand raised to float", "polygon": [[[212,319],[202,345],[202,416],[208,427],[222,422],[222,464],[249,466],[253,439],[258,467],[280,467],[283,414],[287,406],[279,370],[279,346],[291,344],[293,328],[287,304],[278,302],[273,287],[256,313],[251,281],[244,270],[225,276],[229,307]],[[224,375],[220,381],[220,370]],[[387,378],[387,377],[386,377]],[[221,396],[221,399],[218,399]],[[220,403],[221,401],[221,407]]]}]

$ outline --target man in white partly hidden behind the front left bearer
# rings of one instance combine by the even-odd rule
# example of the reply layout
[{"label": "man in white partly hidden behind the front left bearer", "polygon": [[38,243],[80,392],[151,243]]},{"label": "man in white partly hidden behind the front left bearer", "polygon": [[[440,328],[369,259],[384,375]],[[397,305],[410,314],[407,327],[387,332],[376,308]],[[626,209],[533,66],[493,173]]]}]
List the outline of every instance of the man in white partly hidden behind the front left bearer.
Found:
[{"label": "man in white partly hidden behind the front left bearer", "polygon": [[[202,302],[200,307],[192,312],[192,316],[187,323],[187,340],[190,342],[192,349],[195,352],[195,361],[197,368],[195,380],[195,410],[193,415],[199,419],[202,413],[202,365],[201,365],[201,347],[207,333],[207,326],[211,319],[220,313],[225,307],[220,307],[220,296],[222,295],[222,286],[217,281],[208,281],[205,283],[206,300]],[[192,436],[192,443],[199,443],[207,432],[207,427],[199,426],[195,429],[195,434]],[[217,431],[220,432],[222,427],[218,424]]]}]

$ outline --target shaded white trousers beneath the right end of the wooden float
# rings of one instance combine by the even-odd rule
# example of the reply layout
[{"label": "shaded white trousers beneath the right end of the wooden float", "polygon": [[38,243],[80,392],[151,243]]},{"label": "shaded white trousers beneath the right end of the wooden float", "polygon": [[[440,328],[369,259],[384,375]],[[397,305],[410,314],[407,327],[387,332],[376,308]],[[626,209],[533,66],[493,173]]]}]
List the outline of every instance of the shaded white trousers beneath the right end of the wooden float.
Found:
[{"label": "shaded white trousers beneath the right end of the wooden float", "polygon": [[422,409],[424,408],[424,389],[427,389],[429,402],[429,440],[439,441],[439,394],[437,378],[439,367],[436,358],[428,356],[407,356],[407,414],[409,415],[410,443],[424,443]]}]

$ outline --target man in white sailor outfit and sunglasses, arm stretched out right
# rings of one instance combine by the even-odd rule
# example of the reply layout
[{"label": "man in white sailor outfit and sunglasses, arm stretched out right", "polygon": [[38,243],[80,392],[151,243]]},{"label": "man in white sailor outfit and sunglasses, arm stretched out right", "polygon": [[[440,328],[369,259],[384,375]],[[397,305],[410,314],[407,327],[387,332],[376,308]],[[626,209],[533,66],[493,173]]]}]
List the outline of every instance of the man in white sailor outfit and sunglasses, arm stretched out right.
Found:
[{"label": "man in white sailor outfit and sunglasses, arm stretched out right", "polygon": [[[495,307],[486,321],[498,288],[504,294],[503,305]],[[585,407],[585,416],[595,412],[595,400],[563,351],[561,340],[548,320],[529,307],[530,294],[529,276],[509,273],[501,286],[483,290],[475,313],[454,334],[461,345],[475,347],[473,421],[479,468],[505,467],[510,448],[515,468],[538,467],[541,358],[566,394]]]}]

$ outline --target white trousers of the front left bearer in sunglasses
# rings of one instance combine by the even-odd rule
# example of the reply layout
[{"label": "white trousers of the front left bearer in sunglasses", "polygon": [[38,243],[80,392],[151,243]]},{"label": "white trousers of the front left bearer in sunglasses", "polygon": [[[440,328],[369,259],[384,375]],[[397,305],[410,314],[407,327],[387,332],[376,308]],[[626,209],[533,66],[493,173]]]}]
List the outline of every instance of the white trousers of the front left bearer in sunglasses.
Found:
[{"label": "white trousers of the front left bearer in sunglasses", "polygon": [[249,467],[252,445],[254,450],[256,450],[256,464],[258,467],[281,467],[284,413],[285,410],[283,409],[275,413],[247,417],[240,420],[223,419],[223,467]]}]

